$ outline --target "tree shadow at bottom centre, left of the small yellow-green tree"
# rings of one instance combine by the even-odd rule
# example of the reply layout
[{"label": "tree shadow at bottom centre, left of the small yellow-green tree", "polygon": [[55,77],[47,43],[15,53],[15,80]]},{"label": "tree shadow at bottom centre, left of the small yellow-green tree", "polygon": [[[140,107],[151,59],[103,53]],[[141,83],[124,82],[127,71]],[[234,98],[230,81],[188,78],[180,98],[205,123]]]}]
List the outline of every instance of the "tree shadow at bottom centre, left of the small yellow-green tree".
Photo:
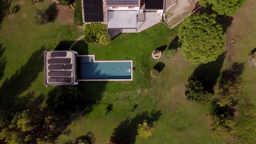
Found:
[{"label": "tree shadow at bottom centre, left of the small yellow-green tree", "polygon": [[127,117],[125,121],[121,122],[117,128],[114,129],[114,133],[110,137],[110,141],[113,143],[135,143],[136,136],[138,134],[138,124],[142,124],[145,120],[148,124],[153,125],[153,122],[159,120],[162,115],[161,111],[147,111],[137,114],[134,118]]}]

